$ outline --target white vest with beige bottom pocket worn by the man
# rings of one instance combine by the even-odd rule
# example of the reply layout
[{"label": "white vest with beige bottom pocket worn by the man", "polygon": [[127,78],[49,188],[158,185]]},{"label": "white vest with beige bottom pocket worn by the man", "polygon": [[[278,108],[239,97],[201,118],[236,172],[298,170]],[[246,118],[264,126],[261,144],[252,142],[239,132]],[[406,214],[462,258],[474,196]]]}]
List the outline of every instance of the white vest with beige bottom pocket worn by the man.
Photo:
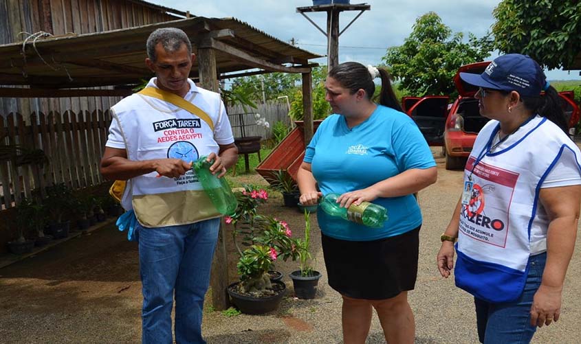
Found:
[{"label": "white vest with beige bottom pocket worn by the man", "polygon": [[[197,90],[190,102],[217,124],[222,104],[219,94]],[[189,163],[210,152],[218,154],[214,133],[203,119],[182,108],[159,108],[156,101],[135,93],[111,108],[113,120],[122,130],[127,159],[176,158]],[[122,205],[133,209],[144,227],[186,225],[221,216],[193,170],[177,179],[157,177],[157,172],[135,176],[127,183]]]}]

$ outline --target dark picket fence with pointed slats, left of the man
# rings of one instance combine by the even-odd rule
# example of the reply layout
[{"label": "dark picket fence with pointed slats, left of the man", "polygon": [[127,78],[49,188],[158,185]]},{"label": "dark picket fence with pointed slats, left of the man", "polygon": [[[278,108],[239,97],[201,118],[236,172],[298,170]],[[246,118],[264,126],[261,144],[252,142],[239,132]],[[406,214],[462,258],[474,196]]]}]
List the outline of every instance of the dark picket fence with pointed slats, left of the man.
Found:
[{"label": "dark picket fence with pointed slats, left of the man", "polygon": [[17,146],[25,152],[43,150],[48,163],[19,163],[18,159],[0,154],[0,195],[2,209],[19,204],[32,190],[54,183],[65,183],[79,189],[103,182],[100,159],[111,115],[109,111],[65,111],[32,113],[26,124],[22,115],[0,116],[0,152]]}]

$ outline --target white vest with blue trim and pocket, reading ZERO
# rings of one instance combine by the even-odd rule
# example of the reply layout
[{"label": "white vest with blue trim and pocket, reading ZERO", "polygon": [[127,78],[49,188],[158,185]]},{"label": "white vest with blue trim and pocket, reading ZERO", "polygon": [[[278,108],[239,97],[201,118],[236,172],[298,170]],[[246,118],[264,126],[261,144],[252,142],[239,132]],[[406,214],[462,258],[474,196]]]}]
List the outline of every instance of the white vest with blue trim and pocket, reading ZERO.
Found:
[{"label": "white vest with blue trim and pocket, reading ZERO", "polygon": [[529,256],[547,249],[540,185],[564,150],[578,164],[581,158],[544,117],[533,117],[490,152],[499,128],[495,120],[486,124],[465,166],[464,182],[471,176],[474,186],[470,203],[461,207],[454,272],[459,288],[490,302],[514,301],[523,292]]}]

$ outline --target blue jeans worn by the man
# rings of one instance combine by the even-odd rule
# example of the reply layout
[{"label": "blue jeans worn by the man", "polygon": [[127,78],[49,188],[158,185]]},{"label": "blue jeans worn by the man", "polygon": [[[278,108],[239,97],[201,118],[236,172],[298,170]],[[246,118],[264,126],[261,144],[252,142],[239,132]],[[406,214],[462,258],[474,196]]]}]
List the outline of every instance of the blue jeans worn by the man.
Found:
[{"label": "blue jeans worn by the man", "polygon": [[174,293],[176,342],[206,343],[201,316],[219,224],[219,218],[160,228],[138,224],[142,343],[172,343]]}]

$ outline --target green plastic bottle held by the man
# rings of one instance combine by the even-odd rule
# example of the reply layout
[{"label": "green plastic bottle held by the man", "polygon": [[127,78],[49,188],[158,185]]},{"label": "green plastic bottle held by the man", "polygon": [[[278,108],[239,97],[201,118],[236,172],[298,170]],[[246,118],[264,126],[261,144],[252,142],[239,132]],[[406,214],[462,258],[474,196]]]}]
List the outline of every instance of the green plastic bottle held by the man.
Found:
[{"label": "green plastic bottle held by the man", "polygon": [[218,178],[210,172],[210,166],[214,161],[210,162],[206,159],[207,157],[201,157],[194,161],[192,168],[201,186],[204,187],[204,191],[220,214],[232,216],[238,206],[236,196],[232,193],[225,177]]}]

